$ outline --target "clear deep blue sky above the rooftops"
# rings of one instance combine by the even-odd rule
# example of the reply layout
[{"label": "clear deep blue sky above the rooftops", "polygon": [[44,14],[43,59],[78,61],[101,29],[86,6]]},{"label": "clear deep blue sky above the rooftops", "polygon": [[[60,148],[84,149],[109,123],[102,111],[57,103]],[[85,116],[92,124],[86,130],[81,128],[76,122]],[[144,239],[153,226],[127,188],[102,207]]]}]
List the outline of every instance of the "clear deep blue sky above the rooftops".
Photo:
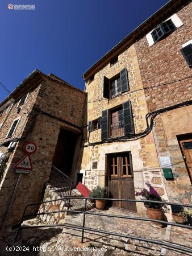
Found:
[{"label": "clear deep blue sky above the rooftops", "polygon": [[[168,0],[1,0],[0,81],[14,90],[34,69],[84,89],[81,75]],[[32,4],[35,10],[8,10]],[[0,86],[0,101],[9,93]]]}]

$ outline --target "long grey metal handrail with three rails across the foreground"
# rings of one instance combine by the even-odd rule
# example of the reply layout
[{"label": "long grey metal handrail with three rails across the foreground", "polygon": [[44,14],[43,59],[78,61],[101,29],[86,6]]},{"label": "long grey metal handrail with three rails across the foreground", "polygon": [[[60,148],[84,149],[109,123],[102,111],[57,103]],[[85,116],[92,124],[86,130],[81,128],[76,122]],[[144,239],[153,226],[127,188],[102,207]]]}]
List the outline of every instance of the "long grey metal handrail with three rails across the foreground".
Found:
[{"label": "long grey metal handrail with three rails across the foreground", "polygon": [[[65,197],[65,199],[70,200],[71,197]],[[77,228],[82,230],[82,236],[81,236],[81,242],[84,242],[84,232],[85,230],[89,230],[89,231],[94,231],[94,232],[98,232],[98,233],[103,233],[103,234],[110,234],[113,236],[118,236],[118,237],[126,237],[126,238],[131,238],[131,239],[135,239],[135,240],[139,240],[139,241],[144,241],[144,242],[151,242],[151,243],[155,243],[157,245],[162,245],[162,246],[166,246],[168,247],[168,249],[177,249],[177,250],[181,250],[181,251],[185,251],[188,253],[192,253],[192,249],[190,249],[189,247],[186,246],[180,246],[180,245],[173,245],[171,243],[167,243],[167,242],[161,242],[161,241],[156,241],[156,240],[151,240],[151,239],[147,239],[147,238],[142,238],[142,237],[135,237],[135,236],[130,236],[130,235],[124,235],[124,234],[119,234],[119,233],[114,233],[114,232],[107,232],[105,230],[98,230],[98,229],[93,229],[93,228],[86,228],[85,227],[85,217],[86,214],[92,214],[95,216],[106,216],[106,217],[115,217],[115,218],[125,218],[125,219],[131,219],[131,220],[140,220],[140,221],[153,221],[153,222],[158,222],[161,224],[166,224],[166,225],[171,225],[171,226],[179,226],[181,228],[186,228],[186,229],[192,229],[192,226],[186,226],[186,225],[182,225],[182,224],[177,224],[177,223],[173,223],[173,222],[169,222],[169,221],[161,221],[161,220],[155,220],[152,218],[143,218],[143,217],[132,217],[132,216],[119,216],[119,215],[115,215],[115,214],[105,214],[105,213],[95,213],[95,212],[89,212],[86,210],[86,205],[87,205],[87,200],[90,200],[89,197],[73,197],[73,199],[82,199],[85,200],[85,207],[84,207],[84,211],[80,211],[80,210],[69,210],[69,209],[65,209],[65,210],[56,210],[56,211],[52,211],[52,212],[41,212],[41,213],[37,213],[37,214],[28,214],[25,215],[26,213],[26,209],[31,206],[31,205],[39,205],[42,203],[51,203],[54,201],[60,201],[62,199],[55,199],[55,200],[49,200],[49,201],[43,201],[43,202],[39,202],[39,203],[33,203],[33,204],[28,204],[26,205],[26,208],[24,209],[23,212],[23,216],[22,216],[22,220],[20,222],[19,225],[19,229],[18,232],[16,234],[16,238],[15,241],[17,240],[18,236],[19,236],[19,232],[22,229],[28,229],[28,228],[44,228],[44,227],[51,227],[51,226],[67,226],[68,228]],[[101,200],[101,198],[91,198],[91,200]],[[177,203],[169,203],[169,202],[160,202],[160,201],[153,201],[153,200],[133,200],[133,199],[102,199],[102,200],[108,200],[108,201],[127,201],[127,202],[137,202],[137,203],[157,203],[157,204],[164,204],[164,205],[177,205],[179,207],[188,207],[188,208],[192,208],[192,205],[186,205],[186,204],[177,204]],[[66,224],[53,224],[53,225],[34,225],[34,226],[22,226],[23,220],[25,217],[34,217],[37,215],[43,215],[43,214],[51,214],[51,213],[60,213],[60,212],[75,212],[75,213],[82,213],[84,214],[84,218],[83,218],[83,223],[82,226],[77,226],[77,225],[66,225]]]}]

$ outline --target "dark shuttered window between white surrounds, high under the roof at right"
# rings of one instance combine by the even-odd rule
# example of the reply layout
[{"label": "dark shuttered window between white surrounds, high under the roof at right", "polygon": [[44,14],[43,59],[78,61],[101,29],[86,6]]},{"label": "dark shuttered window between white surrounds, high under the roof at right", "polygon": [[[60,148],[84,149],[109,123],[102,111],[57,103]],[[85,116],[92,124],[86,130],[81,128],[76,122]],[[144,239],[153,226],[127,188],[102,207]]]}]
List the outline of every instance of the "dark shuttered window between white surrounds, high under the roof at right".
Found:
[{"label": "dark shuttered window between white surrounds, high under the roof at right", "polygon": [[157,42],[158,40],[160,40],[162,38],[162,36],[173,31],[175,28],[176,28],[176,26],[174,26],[171,19],[168,19],[165,22],[162,22],[151,33],[154,42]]}]

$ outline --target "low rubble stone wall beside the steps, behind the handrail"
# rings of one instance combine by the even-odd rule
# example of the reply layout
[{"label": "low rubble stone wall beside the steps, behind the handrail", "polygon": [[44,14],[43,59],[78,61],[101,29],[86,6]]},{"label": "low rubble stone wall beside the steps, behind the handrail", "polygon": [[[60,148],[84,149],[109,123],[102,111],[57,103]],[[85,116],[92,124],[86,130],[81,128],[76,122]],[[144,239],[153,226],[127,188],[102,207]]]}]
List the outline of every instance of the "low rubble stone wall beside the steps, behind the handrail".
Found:
[{"label": "low rubble stone wall beside the steps, behind the handrail", "polygon": [[[59,200],[50,203],[44,203],[40,205],[38,213],[41,212],[54,212],[57,210],[67,209],[66,203],[64,200],[60,200],[61,197],[59,194],[51,187],[51,185],[47,184],[44,190],[44,196],[42,201],[51,201],[51,200]],[[43,222],[43,224],[62,224],[64,223],[64,219],[66,216],[66,212],[60,213],[51,213],[37,216],[37,220]]]}]

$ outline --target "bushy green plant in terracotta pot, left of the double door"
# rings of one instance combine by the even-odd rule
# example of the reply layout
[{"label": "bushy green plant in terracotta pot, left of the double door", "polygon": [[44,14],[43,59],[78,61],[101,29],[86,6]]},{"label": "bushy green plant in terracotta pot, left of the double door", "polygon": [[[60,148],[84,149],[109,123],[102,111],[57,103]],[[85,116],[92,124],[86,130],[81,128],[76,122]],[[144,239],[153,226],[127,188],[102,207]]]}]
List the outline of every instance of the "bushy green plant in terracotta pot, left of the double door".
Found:
[{"label": "bushy green plant in terracotta pot, left of the double door", "polygon": [[[93,188],[89,197],[90,198],[108,198],[109,190],[108,187],[97,186]],[[95,205],[98,210],[103,210],[105,208],[106,200],[95,200]]]}]

